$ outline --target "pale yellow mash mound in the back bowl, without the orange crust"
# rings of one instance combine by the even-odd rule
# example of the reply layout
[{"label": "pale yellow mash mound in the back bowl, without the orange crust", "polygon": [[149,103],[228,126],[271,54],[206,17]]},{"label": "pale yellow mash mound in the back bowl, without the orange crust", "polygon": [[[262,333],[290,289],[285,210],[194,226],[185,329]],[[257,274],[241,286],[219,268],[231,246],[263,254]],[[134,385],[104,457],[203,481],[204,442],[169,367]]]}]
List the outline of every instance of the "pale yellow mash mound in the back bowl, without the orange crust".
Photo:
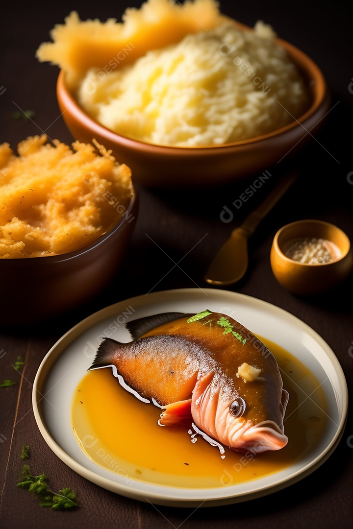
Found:
[{"label": "pale yellow mash mound in the back bowl, without the orange crust", "polygon": [[254,138],[307,107],[295,66],[261,23],[254,32],[226,24],[187,35],[105,76],[91,68],[78,101],[116,133],[177,147]]}]

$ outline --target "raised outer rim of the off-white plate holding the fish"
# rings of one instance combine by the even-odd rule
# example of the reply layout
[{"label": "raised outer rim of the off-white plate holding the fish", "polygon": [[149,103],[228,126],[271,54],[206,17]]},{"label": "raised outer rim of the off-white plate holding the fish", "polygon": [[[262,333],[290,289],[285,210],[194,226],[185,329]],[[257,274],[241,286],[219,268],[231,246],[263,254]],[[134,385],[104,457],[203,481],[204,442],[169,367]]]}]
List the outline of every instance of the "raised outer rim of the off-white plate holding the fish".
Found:
[{"label": "raised outer rim of the off-white plate holding the fish", "polygon": [[[316,343],[318,343],[323,349],[324,353],[327,355],[329,360],[332,362],[332,364],[336,365],[336,373],[337,376],[344,382],[340,386],[340,389],[342,391],[342,413],[340,415],[340,421],[337,427],[337,430],[334,434],[334,436],[331,439],[331,442],[325,447],[325,449],[317,455],[310,463],[307,463],[306,466],[304,466],[302,469],[297,470],[293,473],[292,476],[284,477],[282,479],[279,479],[276,481],[276,483],[268,484],[266,486],[263,486],[261,488],[258,488],[256,490],[253,490],[251,492],[244,491],[239,492],[238,494],[234,495],[222,495],[222,497],[218,498],[207,498],[206,493],[207,490],[219,490],[218,488],[215,489],[187,489],[183,487],[171,487],[171,486],[163,486],[162,488],[168,492],[165,494],[160,494],[160,492],[155,491],[149,491],[148,493],[146,491],[143,491],[141,489],[131,489],[130,487],[119,484],[115,481],[112,481],[104,476],[99,476],[96,472],[84,467],[81,463],[76,461],[71,455],[69,455],[64,449],[61,448],[59,443],[55,440],[55,436],[52,435],[50,432],[48,426],[44,422],[44,418],[42,417],[43,411],[42,411],[42,393],[39,390],[40,387],[43,387],[46,378],[57,359],[60,357],[62,353],[64,353],[65,349],[70,343],[73,343],[78,336],[83,335],[92,325],[98,324],[99,322],[102,322],[106,317],[109,317],[110,315],[113,315],[116,313],[116,307],[121,306],[125,303],[130,303],[130,306],[133,306],[133,303],[137,305],[139,308],[153,305],[153,303],[176,303],[178,301],[178,298],[182,299],[187,296],[194,297],[196,294],[200,296],[200,294],[206,294],[210,295],[210,297],[224,297],[224,298],[230,298],[233,299],[233,302],[237,302],[237,300],[246,299],[249,303],[253,304],[259,304],[260,308],[261,306],[270,308],[271,311],[277,312],[280,316],[286,318],[289,321],[295,322],[297,325],[299,325],[304,332],[307,332],[309,335],[311,335]],[[169,296],[169,299],[164,299]],[[197,298],[197,296],[196,296]],[[198,301],[198,299],[194,299],[194,301]],[[39,400],[38,400],[38,397]],[[337,448],[337,445],[339,444],[341,437],[343,435],[343,431],[345,430],[345,425],[347,422],[347,415],[348,415],[348,386],[345,374],[342,370],[341,364],[336,356],[334,354],[333,350],[330,348],[327,342],[323,340],[323,338],[320,336],[319,333],[317,333],[312,327],[310,327],[308,324],[303,322],[300,318],[297,316],[289,313],[285,309],[278,307],[277,305],[274,305],[272,303],[269,303],[265,300],[256,298],[254,296],[249,296],[247,294],[242,294],[238,292],[233,292],[229,290],[214,290],[212,288],[206,288],[206,289],[199,289],[199,288],[178,288],[178,289],[168,289],[168,290],[161,290],[161,291],[155,291],[153,293],[149,294],[142,294],[133,296],[127,299],[120,300],[119,302],[113,303],[111,305],[108,305],[106,307],[103,307],[99,309],[98,311],[86,316],[83,318],[83,320],[76,323],[74,326],[72,326],[68,331],[66,331],[56,342],[51,346],[49,351],[44,355],[43,359],[41,360],[40,366],[37,370],[37,373],[34,378],[33,382],[33,388],[32,388],[32,406],[33,406],[33,413],[35,417],[35,421],[37,423],[37,426],[39,428],[39,431],[44,439],[44,441],[48,444],[49,448],[63,461],[69,468],[77,472],[80,476],[88,479],[89,481],[93,482],[94,484],[105,488],[107,490],[110,490],[112,492],[115,492],[116,494],[120,494],[124,497],[129,497],[135,500],[144,501],[156,505],[164,505],[164,506],[172,506],[172,507],[211,507],[211,506],[221,506],[221,505],[229,505],[234,503],[239,503],[240,501],[248,501],[251,499],[263,497],[269,494],[273,494],[273,492],[276,492],[278,490],[282,490],[292,484],[294,484],[297,481],[300,481],[304,477],[310,475],[312,472],[314,472],[317,468],[319,468],[332,454],[332,452]],[[254,481],[256,482],[256,480]],[[143,483],[143,481],[142,481]],[[148,484],[153,486],[153,484]],[[161,487],[161,486],[160,486]],[[194,494],[196,491],[200,490],[200,498],[196,498],[195,495],[193,495],[192,498],[188,498],[187,496],[178,497],[176,495],[176,490],[179,491],[187,491],[187,490],[193,490]],[[227,487],[223,487],[222,490],[229,490]],[[174,494],[173,494],[174,492]]]}]

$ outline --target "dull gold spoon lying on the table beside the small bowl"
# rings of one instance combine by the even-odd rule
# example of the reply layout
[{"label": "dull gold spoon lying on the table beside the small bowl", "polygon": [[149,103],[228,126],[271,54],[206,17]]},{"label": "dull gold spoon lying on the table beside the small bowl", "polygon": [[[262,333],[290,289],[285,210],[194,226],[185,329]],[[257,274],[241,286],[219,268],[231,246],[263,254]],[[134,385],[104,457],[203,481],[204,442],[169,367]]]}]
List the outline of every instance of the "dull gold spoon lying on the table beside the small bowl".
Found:
[{"label": "dull gold spoon lying on the table beside the small bowl", "polygon": [[205,280],[212,285],[230,285],[239,281],[248,268],[248,238],[267,215],[270,209],[284,195],[297,177],[295,171],[278,182],[264,202],[248,215],[241,226],[232,231],[230,238],[216,253]]}]

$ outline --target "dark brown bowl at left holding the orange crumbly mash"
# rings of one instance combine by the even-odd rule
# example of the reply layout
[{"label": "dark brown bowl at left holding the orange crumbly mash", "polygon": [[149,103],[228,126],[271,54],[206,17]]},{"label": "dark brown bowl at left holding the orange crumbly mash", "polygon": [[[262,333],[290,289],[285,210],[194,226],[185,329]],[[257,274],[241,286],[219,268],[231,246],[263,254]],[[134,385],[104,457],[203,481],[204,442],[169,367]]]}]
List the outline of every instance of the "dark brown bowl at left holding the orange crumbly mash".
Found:
[{"label": "dark brown bowl at left holding the orange crumbly mash", "polygon": [[38,323],[71,311],[108,284],[137,220],[133,194],[126,214],[94,243],[53,256],[0,259],[0,326]]}]

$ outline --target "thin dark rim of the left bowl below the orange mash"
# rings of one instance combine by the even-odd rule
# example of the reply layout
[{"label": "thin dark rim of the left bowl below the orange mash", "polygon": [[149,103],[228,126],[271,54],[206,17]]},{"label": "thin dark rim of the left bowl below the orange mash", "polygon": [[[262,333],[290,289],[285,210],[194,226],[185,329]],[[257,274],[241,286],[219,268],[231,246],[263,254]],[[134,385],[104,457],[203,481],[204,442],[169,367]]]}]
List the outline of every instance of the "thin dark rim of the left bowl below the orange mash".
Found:
[{"label": "thin dark rim of the left bowl below the orange mash", "polygon": [[[90,244],[87,244],[81,248],[78,248],[77,250],[72,250],[70,252],[65,253],[51,253],[49,255],[43,255],[43,256],[33,256],[33,257],[17,257],[17,258],[0,258],[0,262],[8,263],[7,265],[0,265],[0,266],[21,266],[19,263],[25,262],[26,267],[28,266],[37,266],[39,265],[38,259],[40,259],[40,265],[42,266],[50,266],[57,262],[64,262],[64,261],[71,261],[73,259],[82,257],[83,255],[91,252],[95,248],[99,247],[101,244],[103,244],[105,241],[110,239],[123,224],[128,222],[128,218],[130,216],[130,213],[132,209],[135,207],[135,204],[137,205],[138,202],[138,196],[136,194],[135,188],[132,188],[132,196],[130,198],[130,202],[128,207],[126,207],[126,210],[121,218],[115,223],[112,223],[102,235],[99,235],[98,239],[91,242]],[[136,216],[134,216],[131,221],[136,220]],[[11,265],[10,265],[11,263]]]}]

